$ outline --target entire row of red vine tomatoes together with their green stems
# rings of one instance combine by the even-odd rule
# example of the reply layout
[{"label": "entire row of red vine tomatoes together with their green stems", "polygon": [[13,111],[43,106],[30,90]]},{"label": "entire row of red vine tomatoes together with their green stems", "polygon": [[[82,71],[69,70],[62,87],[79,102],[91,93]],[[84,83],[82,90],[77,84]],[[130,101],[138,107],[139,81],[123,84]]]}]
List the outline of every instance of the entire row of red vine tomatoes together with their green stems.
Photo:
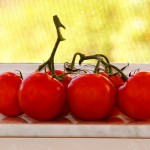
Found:
[{"label": "entire row of red vine tomatoes together with their green stems", "polygon": [[[24,78],[13,72],[0,74],[0,112],[9,117],[25,113],[40,121],[68,113],[81,120],[101,120],[118,113],[135,120],[150,119],[150,72],[127,77],[106,56],[79,52],[71,63],[64,63],[64,69],[55,69],[56,49],[64,40],[59,28],[65,27],[57,16],[54,23],[58,38],[46,62]],[[77,55],[80,65],[96,59],[94,71],[75,68]]]}]

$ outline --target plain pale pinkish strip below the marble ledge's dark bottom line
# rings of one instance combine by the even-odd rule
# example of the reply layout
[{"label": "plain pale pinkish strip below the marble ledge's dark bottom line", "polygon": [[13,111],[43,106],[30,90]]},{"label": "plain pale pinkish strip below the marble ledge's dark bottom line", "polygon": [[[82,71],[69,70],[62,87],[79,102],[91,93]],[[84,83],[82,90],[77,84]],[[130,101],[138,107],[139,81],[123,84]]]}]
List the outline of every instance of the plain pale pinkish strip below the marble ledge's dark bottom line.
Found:
[{"label": "plain pale pinkish strip below the marble ledge's dark bottom line", "polygon": [[150,150],[150,140],[109,138],[3,138],[0,150]]}]

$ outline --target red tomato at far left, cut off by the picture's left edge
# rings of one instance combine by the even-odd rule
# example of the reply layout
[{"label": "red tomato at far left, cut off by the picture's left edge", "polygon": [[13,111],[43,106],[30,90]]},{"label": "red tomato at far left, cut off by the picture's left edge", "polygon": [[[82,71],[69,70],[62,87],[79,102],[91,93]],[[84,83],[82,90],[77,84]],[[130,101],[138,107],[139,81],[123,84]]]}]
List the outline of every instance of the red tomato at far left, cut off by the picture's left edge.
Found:
[{"label": "red tomato at far left, cut off by the picture's left edge", "polygon": [[0,112],[8,117],[23,114],[18,102],[18,90],[22,79],[13,72],[0,75]]}]

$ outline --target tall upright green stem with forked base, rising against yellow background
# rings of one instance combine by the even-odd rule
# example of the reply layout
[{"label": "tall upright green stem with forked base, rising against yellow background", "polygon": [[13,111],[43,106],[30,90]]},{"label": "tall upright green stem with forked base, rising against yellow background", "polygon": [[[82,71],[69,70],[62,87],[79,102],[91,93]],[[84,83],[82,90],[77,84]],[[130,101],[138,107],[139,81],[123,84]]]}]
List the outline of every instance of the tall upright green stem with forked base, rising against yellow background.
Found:
[{"label": "tall upright green stem with forked base, rising against yellow background", "polygon": [[52,50],[52,53],[49,57],[49,59],[44,62],[43,64],[41,64],[38,69],[36,71],[41,71],[46,65],[48,65],[51,73],[52,73],[52,76],[57,78],[56,74],[55,74],[55,66],[54,66],[54,56],[55,56],[55,53],[56,53],[56,50],[58,48],[58,45],[61,41],[64,41],[65,38],[62,36],[61,34],[61,31],[60,31],[60,28],[65,28],[65,26],[60,22],[59,18],[57,17],[57,15],[53,16],[53,21],[54,21],[54,24],[55,24],[55,27],[56,27],[56,31],[57,31],[57,40],[56,40],[56,43],[54,45],[54,48]]}]

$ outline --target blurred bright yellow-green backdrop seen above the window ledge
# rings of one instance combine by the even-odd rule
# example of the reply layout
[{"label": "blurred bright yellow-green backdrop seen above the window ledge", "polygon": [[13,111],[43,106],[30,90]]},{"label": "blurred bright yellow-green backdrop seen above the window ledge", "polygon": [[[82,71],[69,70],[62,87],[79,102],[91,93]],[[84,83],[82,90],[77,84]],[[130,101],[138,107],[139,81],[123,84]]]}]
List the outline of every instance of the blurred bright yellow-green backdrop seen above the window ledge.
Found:
[{"label": "blurred bright yellow-green backdrop seen above the window ledge", "polygon": [[57,38],[54,15],[66,26],[56,63],[75,52],[150,62],[150,0],[0,0],[0,63],[47,60]]}]

